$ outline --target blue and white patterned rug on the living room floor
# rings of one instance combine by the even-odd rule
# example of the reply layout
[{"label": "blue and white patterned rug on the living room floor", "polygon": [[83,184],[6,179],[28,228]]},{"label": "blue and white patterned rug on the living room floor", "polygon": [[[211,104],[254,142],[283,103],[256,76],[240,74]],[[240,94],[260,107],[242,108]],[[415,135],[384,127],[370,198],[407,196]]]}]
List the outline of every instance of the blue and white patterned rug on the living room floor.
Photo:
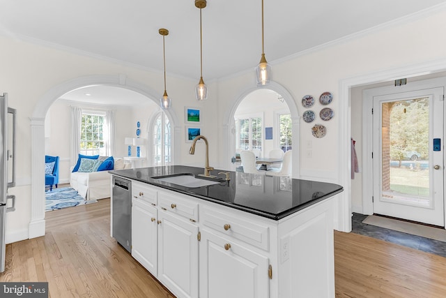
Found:
[{"label": "blue and white patterned rug on the living room floor", "polygon": [[70,187],[53,188],[52,191],[45,192],[45,199],[45,211],[98,202],[97,200],[85,200]]}]

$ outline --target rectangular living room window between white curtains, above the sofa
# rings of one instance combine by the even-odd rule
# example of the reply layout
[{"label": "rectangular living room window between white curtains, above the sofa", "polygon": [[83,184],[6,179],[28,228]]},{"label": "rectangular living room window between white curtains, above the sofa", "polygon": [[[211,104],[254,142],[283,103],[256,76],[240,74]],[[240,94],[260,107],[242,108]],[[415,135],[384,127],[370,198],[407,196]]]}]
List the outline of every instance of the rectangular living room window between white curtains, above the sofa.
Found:
[{"label": "rectangular living room window between white curtains, above the sofa", "polygon": [[84,155],[107,155],[107,126],[105,112],[83,112],[79,153]]}]

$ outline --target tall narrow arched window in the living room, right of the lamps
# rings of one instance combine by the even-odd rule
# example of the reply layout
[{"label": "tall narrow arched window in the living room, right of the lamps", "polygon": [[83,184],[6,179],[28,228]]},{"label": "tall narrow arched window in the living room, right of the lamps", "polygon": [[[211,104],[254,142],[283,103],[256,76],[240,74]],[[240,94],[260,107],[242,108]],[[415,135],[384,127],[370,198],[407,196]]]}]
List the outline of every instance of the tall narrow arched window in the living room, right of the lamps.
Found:
[{"label": "tall narrow arched window in the living room, right of the lamps", "polygon": [[169,165],[171,163],[171,127],[169,118],[164,112],[157,114],[152,135],[153,165]]}]

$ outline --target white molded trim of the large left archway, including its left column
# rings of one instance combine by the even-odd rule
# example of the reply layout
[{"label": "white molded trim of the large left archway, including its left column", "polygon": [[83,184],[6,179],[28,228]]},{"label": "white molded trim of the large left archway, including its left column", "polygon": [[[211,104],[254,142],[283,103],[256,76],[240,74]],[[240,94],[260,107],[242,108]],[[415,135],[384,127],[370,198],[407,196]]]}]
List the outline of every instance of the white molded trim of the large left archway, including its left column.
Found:
[{"label": "white molded trim of the large left archway, including its left column", "polygon": [[[40,174],[45,172],[45,115],[49,107],[55,100],[63,96],[69,91],[87,86],[107,85],[130,89],[143,96],[148,100],[160,98],[161,94],[146,87],[144,84],[129,80],[125,75],[93,75],[87,77],[79,77],[74,80],[63,82],[56,87],[50,89],[36,105],[31,117],[31,221],[29,223],[29,238],[40,237],[45,235],[45,189],[42,187],[45,177]],[[166,111],[171,124],[175,127],[178,124],[178,118],[173,110]],[[174,130],[174,134],[179,130]],[[171,146],[174,147],[175,140],[178,135],[173,135]],[[172,156],[174,159],[175,156]]]}]

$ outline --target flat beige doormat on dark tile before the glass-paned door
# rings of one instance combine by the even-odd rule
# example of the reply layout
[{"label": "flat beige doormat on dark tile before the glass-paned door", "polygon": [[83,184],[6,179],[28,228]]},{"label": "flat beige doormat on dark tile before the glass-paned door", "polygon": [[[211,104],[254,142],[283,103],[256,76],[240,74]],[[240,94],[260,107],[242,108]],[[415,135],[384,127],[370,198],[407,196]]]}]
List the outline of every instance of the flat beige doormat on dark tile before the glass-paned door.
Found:
[{"label": "flat beige doormat on dark tile before the glass-paned door", "polygon": [[398,221],[397,219],[376,215],[367,216],[362,223],[446,242],[446,230],[427,225],[408,223],[407,221]]}]

